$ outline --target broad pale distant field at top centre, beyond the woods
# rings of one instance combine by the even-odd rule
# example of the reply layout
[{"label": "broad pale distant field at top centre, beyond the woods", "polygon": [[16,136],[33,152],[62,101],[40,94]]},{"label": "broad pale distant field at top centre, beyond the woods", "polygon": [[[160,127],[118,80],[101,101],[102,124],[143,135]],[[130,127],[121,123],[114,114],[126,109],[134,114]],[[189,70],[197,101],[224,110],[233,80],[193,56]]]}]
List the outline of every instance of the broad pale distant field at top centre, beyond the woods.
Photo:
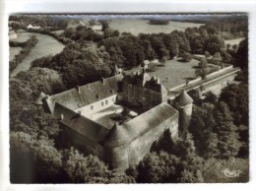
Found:
[{"label": "broad pale distant field at top centre, beyond the woods", "polygon": [[135,35],[139,33],[169,33],[175,30],[185,31],[187,28],[200,27],[204,24],[194,24],[194,23],[183,23],[183,22],[169,22],[168,25],[150,25],[149,20],[131,20],[131,19],[121,19],[112,20],[109,23],[109,27],[113,30],[118,30],[119,32],[131,32]]}]

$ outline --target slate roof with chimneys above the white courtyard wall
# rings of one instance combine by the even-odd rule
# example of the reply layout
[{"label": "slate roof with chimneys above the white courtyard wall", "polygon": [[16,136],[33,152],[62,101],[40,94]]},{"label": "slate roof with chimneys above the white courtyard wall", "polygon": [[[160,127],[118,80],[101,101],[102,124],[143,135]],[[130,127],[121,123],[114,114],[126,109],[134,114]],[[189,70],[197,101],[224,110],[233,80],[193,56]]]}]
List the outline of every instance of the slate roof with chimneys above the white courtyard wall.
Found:
[{"label": "slate roof with chimneys above the white courtyard wall", "polygon": [[92,84],[77,87],[57,95],[49,96],[48,99],[52,104],[58,102],[75,110],[100,99],[115,95],[118,91],[118,82],[121,81],[122,78],[123,76],[121,74],[116,75],[104,79],[104,82],[97,81]]}]

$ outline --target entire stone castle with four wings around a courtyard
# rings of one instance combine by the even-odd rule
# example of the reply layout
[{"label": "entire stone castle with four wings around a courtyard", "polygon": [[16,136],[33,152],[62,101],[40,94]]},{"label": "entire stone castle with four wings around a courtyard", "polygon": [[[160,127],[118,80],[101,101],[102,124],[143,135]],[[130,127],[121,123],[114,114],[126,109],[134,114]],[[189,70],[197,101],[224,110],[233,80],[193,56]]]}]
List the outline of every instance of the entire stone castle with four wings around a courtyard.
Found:
[{"label": "entire stone castle with four wings around a courtyard", "polygon": [[127,168],[143,159],[163,132],[175,142],[189,124],[192,98],[183,91],[169,102],[160,79],[144,70],[133,75],[116,70],[115,76],[92,84],[41,94],[35,103],[60,120],[63,144],[113,168]]}]

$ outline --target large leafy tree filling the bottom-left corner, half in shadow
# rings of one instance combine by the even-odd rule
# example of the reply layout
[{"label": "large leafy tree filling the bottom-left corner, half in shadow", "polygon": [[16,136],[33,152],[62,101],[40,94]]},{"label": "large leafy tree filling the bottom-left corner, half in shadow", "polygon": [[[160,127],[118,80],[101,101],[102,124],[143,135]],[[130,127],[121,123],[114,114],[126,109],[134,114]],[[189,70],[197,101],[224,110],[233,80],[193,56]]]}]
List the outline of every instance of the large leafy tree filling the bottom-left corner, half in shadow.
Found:
[{"label": "large leafy tree filling the bottom-left corner, half in shadow", "polygon": [[10,146],[13,182],[54,183],[60,180],[62,155],[50,140],[36,140],[24,132],[11,132]]}]

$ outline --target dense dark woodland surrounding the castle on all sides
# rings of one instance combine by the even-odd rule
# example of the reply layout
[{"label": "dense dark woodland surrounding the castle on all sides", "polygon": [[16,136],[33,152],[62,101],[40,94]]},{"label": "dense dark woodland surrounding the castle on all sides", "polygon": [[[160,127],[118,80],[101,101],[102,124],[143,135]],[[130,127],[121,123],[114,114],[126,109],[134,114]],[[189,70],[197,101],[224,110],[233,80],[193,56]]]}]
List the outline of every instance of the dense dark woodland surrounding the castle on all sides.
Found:
[{"label": "dense dark woodland surrounding the castle on all sides", "polygon": [[[25,16],[23,16],[25,17]],[[20,25],[41,19],[10,17]],[[25,23],[23,23],[25,21]],[[32,62],[32,68],[10,79],[10,159],[13,183],[168,183],[248,181],[248,38],[247,18],[207,22],[185,32],[119,33],[102,21],[103,34],[87,27],[66,29],[70,39],[62,52]],[[154,24],[153,24],[154,25]],[[18,28],[18,27],[17,27]],[[15,28],[14,28],[15,29]],[[224,39],[246,37],[238,46]],[[174,145],[165,132],[137,166],[109,169],[94,156],[85,156],[59,143],[59,123],[32,102],[40,92],[53,95],[113,75],[114,64],[132,68],[145,59],[172,59],[191,54],[218,55],[240,67],[237,84],[220,97],[196,91],[192,121]],[[221,63],[218,63],[221,64]],[[171,78],[171,77],[170,77]],[[235,178],[224,168],[239,169]]]}]

